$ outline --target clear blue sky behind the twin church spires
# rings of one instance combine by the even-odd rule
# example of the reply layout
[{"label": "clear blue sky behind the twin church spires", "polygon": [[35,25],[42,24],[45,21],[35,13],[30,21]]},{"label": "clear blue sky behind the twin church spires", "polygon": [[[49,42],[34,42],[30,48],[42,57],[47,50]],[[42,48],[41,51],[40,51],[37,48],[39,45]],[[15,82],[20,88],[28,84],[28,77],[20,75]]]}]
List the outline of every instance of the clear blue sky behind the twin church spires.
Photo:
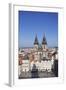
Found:
[{"label": "clear blue sky behind the twin church spires", "polygon": [[58,13],[19,11],[19,47],[33,47],[35,36],[41,44],[45,34],[48,47],[58,46]]}]

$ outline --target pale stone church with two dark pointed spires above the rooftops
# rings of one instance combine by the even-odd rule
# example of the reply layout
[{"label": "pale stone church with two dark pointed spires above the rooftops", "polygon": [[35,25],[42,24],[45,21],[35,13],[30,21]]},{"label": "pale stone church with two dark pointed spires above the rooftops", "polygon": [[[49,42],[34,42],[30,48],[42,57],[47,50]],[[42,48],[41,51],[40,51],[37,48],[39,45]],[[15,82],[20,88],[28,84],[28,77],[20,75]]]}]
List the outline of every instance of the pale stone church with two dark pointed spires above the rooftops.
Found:
[{"label": "pale stone church with two dark pointed spires above the rooftops", "polygon": [[38,42],[37,35],[35,37],[34,41],[34,54],[35,54],[35,60],[46,60],[48,59],[48,48],[47,48],[47,41],[45,38],[45,35],[42,40],[42,44],[40,45]]}]

